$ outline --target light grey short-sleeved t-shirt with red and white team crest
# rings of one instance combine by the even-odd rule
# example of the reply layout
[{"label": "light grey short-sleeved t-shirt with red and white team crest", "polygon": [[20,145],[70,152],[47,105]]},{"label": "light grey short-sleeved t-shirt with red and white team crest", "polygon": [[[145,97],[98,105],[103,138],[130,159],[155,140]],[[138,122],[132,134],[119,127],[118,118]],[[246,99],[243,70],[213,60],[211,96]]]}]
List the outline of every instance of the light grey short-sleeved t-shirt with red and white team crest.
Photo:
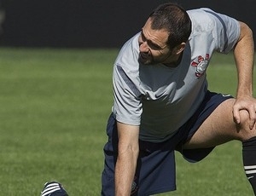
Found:
[{"label": "light grey short-sleeved t-shirt with red and white team crest", "polygon": [[138,61],[140,32],[125,43],[113,66],[113,115],[140,126],[143,141],[166,141],[200,106],[207,92],[206,69],[214,51],[228,53],[240,26],[211,9],[188,11],[192,33],[175,68]]}]

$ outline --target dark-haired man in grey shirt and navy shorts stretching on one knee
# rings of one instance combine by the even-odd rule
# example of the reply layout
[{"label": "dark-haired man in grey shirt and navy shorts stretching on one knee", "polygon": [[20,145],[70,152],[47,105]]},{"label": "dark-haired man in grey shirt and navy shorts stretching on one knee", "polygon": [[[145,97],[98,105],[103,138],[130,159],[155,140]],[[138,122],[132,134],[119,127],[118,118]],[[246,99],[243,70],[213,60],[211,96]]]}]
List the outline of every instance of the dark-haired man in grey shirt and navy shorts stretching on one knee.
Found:
[{"label": "dark-haired man in grey shirt and navy shorts stretching on one knee", "polygon": [[[236,99],[207,90],[214,51],[234,50]],[[242,142],[256,193],[253,34],[211,9],[165,3],[120,50],[113,66],[113,111],[104,147],[102,195],[150,195],[176,189],[174,150],[191,162],[213,147]]]}]

